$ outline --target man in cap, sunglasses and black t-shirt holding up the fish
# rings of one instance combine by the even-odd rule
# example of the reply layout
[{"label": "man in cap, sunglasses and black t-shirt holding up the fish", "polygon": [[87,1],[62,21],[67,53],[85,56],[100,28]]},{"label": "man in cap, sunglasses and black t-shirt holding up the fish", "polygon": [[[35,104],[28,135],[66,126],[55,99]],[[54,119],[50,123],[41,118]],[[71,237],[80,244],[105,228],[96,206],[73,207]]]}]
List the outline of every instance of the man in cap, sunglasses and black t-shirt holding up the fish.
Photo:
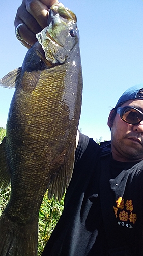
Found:
[{"label": "man in cap, sunglasses and black t-shirt holding up the fish", "polygon": [[[15,27],[24,46],[34,44],[56,2],[23,0]],[[142,88],[129,88],[111,110],[111,143],[77,136],[65,208],[42,256],[143,255]]]}]

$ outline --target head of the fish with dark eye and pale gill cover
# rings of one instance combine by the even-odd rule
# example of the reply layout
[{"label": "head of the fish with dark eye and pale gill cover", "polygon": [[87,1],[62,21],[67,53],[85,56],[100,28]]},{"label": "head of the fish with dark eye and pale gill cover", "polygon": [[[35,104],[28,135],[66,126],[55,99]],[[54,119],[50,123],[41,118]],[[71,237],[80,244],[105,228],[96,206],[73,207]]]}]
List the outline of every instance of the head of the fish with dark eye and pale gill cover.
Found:
[{"label": "head of the fish with dark eye and pale gill cover", "polygon": [[76,21],[76,15],[63,5],[54,4],[50,8],[48,26],[36,34],[50,63],[65,63],[70,59],[79,43]]}]

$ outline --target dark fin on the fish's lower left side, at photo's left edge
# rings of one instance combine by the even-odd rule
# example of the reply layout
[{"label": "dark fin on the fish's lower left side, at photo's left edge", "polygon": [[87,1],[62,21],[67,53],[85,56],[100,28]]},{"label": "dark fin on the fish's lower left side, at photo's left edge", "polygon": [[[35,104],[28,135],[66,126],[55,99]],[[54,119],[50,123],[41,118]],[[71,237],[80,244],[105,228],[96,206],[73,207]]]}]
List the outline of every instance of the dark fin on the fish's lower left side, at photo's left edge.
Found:
[{"label": "dark fin on the fish's lower left side, at photo's left edge", "polygon": [[5,153],[6,137],[0,144],[0,190],[6,189],[11,182],[11,174]]}]

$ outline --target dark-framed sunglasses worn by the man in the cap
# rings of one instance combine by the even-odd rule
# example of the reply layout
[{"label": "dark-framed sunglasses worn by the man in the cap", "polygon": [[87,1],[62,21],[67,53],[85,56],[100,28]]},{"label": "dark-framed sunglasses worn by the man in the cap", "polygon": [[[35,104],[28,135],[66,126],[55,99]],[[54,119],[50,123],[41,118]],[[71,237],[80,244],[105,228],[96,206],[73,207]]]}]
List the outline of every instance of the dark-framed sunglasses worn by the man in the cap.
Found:
[{"label": "dark-framed sunglasses worn by the man in the cap", "polygon": [[116,112],[124,122],[129,124],[139,124],[143,120],[143,113],[133,106],[119,107]]}]

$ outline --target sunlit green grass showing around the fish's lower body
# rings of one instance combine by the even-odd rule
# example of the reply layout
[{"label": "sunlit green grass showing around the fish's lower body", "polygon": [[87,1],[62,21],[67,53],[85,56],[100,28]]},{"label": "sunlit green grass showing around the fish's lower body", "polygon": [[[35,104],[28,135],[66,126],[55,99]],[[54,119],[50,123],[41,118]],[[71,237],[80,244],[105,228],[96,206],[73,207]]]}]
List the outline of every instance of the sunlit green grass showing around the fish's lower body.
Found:
[{"label": "sunlit green grass showing around the fish's lower body", "polygon": [[[6,130],[0,127],[0,143],[5,137]],[[6,207],[10,197],[11,187],[0,191],[0,215]],[[39,210],[39,236],[38,236],[38,255],[40,256],[56,223],[58,222],[64,206],[64,197],[61,202],[49,200],[47,192],[44,195],[43,202]]]}]

